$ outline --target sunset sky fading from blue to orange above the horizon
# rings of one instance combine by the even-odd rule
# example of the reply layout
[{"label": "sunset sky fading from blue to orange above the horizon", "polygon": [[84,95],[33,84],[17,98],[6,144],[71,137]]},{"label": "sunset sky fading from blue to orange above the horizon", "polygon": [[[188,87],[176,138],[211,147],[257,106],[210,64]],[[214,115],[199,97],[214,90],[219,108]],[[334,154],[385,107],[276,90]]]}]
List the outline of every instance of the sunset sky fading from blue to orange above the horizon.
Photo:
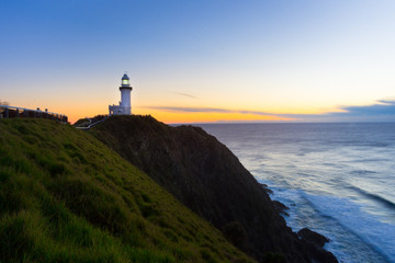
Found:
[{"label": "sunset sky fading from blue to orange above the horizon", "polygon": [[394,122],[393,0],[0,0],[0,101],[71,122]]}]

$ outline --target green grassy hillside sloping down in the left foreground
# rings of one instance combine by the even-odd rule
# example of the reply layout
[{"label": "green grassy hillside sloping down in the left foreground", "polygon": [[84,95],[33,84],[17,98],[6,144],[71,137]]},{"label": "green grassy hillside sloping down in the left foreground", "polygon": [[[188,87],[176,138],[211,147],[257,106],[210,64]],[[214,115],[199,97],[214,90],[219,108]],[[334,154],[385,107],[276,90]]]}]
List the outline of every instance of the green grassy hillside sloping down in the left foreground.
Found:
[{"label": "green grassy hillside sloping down in the left foreground", "polygon": [[102,142],[0,121],[0,262],[251,262]]}]

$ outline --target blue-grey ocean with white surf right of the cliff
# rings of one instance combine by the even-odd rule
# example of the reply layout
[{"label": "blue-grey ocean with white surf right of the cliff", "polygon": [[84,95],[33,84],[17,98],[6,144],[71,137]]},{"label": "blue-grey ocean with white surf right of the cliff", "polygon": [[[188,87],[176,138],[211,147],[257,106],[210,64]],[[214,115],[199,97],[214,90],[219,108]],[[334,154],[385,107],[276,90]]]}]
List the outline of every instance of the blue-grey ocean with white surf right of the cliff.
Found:
[{"label": "blue-grey ocean with white surf right of the cliff", "polygon": [[201,124],[285,204],[287,225],[330,239],[339,262],[395,262],[395,124]]}]

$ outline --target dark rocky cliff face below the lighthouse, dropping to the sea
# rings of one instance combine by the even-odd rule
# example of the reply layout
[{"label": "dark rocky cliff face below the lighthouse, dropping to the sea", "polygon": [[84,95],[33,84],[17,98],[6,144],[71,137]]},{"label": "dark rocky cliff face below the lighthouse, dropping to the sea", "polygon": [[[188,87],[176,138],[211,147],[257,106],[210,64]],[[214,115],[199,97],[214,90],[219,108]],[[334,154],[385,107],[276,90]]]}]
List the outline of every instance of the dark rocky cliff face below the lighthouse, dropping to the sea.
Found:
[{"label": "dark rocky cliff face below the lighthouse, dropping to the sea", "polygon": [[150,116],[116,116],[90,133],[259,261],[336,262],[326,251],[329,255],[316,256],[319,252],[286,227],[237,157],[202,128],[171,127]]}]

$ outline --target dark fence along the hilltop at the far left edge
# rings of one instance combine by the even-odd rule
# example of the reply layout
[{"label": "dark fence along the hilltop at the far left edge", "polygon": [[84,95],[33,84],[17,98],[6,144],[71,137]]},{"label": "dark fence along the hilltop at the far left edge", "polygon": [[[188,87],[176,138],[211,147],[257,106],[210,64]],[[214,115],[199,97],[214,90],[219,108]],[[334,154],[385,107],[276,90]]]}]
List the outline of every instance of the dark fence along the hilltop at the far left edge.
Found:
[{"label": "dark fence along the hilltop at the far left edge", "polygon": [[37,110],[30,110],[24,107],[0,105],[0,118],[14,118],[14,117],[48,118],[61,123],[67,123],[68,121],[67,116],[64,114],[48,112],[47,110],[41,111],[38,107]]}]

